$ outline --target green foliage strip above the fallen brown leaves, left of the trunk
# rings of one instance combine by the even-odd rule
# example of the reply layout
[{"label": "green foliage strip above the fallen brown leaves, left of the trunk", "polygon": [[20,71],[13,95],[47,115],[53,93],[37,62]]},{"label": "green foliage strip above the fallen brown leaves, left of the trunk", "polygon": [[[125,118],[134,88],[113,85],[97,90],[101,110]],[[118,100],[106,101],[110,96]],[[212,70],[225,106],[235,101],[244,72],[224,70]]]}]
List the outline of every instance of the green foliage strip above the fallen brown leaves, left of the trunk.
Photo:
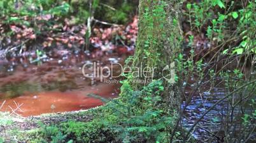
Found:
[{"label": "green foliage strip above the fallen brown leaves, left of the trunk", "polygon": [[112,23],[125,23],[131,11],[136,9],[132,4],[136,1],[3,0],[0,1],[0,19],[3,23],[32,26],[36,25],[36,16],[50,14],[58,19],[74,16],[75,23],[86,23],[89,16]]}]

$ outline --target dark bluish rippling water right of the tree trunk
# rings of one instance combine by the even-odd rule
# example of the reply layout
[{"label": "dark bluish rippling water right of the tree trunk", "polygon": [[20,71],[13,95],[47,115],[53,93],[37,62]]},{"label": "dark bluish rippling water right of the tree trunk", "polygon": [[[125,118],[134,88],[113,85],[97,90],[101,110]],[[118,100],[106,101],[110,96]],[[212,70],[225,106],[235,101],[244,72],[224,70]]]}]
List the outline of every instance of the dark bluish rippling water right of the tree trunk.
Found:
[{"label": "dark bluish rippling water right of the tree trunk", "polygon": [[[193,95],[181,120],[183,127],[190,129],[194,123],[208,111],[208,109],[215,105],[220,99],[227,96],[229,92],[227,92],[227,89],[224,87],[224,85],[212,89],[210,87],[204,87],[208,90],[197,92]],[[189,94],[189,92],[186,94]],[[247,96],[248,94],[245,95]],[[232,109],[231,106],[233,100],[235,101],[234,103],[236,103],[240,98],[243,99],[242,96],[237,94],[234,94],[233,96],[234,98],[231,96],[224,99],[224,101],[217,104],[217,106],[203,116],[202,120],[198,121],[196,127],[194,127],[194,130],[192,131],[193,137],[195,137],[198,142],[224,142],[225,137],[227,137],[226,135],[233,135],[232,137],[229,137],[229,139],[240,139],[240,137],[243,137],[242,135],[244,135],[245,132],[242,131],[244,129],[242,126],[242,117],[245,113],[252,114],[254,108],[250,105],[250,102],[246,102],[245,104],[241,106],[239,104]],[[255,97],[256,96],[254,95],[250,99],[255,99]],[[186,103],[183,101],[181,109],[184,109],[185,105]],[[255,137],[256,133],[252,132],[252,137],[250,137],[250,139],[255,139]],[[249,142],[253,141],[250,140]]]}]

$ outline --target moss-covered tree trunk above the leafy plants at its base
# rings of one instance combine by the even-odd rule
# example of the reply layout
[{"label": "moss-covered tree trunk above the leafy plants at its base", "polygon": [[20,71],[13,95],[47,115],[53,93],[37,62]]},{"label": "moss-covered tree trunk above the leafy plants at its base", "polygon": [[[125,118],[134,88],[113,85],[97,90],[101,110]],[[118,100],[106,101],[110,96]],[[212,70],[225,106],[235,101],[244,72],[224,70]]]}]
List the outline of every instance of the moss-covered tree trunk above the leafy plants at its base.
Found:
[{"label": "moss-covered tree trunk above the leafy plants at its base", "polygon": [[140,0],[139,1],[139,34],[136,53],[132,67],[150,67],[146,76],[133,75],[134,78],[145,83],[132,82],[134,90],[141,89],[148,84],[146,81],[164,80],[162,96],[168,108],[178,111],[180,95],[174,84],[174,59],[181,50],[181,30],[179,24],[181,0]]}]

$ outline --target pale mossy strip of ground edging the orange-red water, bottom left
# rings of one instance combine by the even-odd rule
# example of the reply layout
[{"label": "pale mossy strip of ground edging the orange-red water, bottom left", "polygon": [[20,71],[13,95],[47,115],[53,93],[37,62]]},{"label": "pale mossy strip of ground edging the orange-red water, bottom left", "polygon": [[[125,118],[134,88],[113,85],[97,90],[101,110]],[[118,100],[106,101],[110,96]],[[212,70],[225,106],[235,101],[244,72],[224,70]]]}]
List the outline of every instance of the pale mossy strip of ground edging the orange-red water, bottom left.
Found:
[{"label": "pale mossy strip of ground edging the orange-red water, bottom left", "polygon": [[24,132],[36,132],[42,125],[58,125],[66,121],[91,121],[96,113],[96,108],[64,113],[48,113],[39,116],[14,116],[10,113],[0,112],[0,142],[1,137],[5,142],[20,142]]}]

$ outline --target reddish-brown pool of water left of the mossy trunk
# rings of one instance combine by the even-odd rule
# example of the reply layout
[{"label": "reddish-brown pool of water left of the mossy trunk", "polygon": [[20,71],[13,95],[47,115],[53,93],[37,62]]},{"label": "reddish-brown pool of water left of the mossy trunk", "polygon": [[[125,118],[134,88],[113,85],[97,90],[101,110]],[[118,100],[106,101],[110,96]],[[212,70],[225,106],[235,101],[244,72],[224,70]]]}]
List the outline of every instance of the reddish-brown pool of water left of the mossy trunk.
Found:
[{"label": "reddish-brown pool of water left of the mossy trunk", "polygon": [[[117,97],[119,84],[85,78],[82,66],[92,61],[101,61],[101,65],[108,66],[113,60],[122,63],[122,58],[111,55],[89,60],[85,56],[70,55],[66,60],[60,59],[48,59],[39,66],[27,63],[11,66],[8,63],[0,67],[0,107],[4,103],[0,111],[15,111],[21,116],[78,111],[104,104],[87,94]],[[85,72],[92,73],[90,70]]]}]

